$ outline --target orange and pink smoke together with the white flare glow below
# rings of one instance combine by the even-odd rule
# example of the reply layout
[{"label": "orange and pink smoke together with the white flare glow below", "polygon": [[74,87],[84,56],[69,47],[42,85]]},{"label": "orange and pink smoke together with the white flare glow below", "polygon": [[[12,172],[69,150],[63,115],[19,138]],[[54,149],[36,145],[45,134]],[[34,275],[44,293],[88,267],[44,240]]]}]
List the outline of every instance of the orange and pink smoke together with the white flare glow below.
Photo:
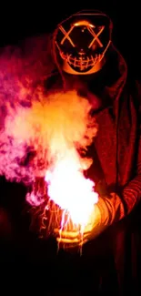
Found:
[{"label": "orange and pink smoke together with the white flare glow below", "polygon": [[[15,179],[20,175],[26,183],[34,184],[36,178],[44,178],[49,199],[83,229],[97,201],[95,184],[84,177],[93,160],[79,153],[85,152],[96,136],[92,107],[75,90],[48,97],[39,90],[37,95],[30,107],[7,105],[5,137],[13,143],[8,168],[13,169]],[[30,150],[33,156],[25,162]],[[39,206],[45,197],[39,198],[32,190],[26,200]],[[63,223],[62,219],[61,227]]]}]

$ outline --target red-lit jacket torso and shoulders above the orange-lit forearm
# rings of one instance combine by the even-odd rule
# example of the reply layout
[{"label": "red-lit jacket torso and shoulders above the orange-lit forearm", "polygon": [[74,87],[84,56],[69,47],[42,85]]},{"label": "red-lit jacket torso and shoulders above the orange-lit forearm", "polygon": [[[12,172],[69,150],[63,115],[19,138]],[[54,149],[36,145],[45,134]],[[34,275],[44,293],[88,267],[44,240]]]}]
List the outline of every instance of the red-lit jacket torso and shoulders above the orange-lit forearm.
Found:
[{"label": "red-lit jacket torso and shoulders above the orange-lit forearm", "polygon": [[[130,213],[141,198],[140,85],[127,73],[126,61],[115,46],[98,74],[64,77],[67,89],[76,88],[94,105],[98,132],[91,154],[94,166],[97,156],[101,167],[98,179],[105,179],[107,191],[116,192]],[[60,78],[55,75],[46,88],[58,90]]]}]

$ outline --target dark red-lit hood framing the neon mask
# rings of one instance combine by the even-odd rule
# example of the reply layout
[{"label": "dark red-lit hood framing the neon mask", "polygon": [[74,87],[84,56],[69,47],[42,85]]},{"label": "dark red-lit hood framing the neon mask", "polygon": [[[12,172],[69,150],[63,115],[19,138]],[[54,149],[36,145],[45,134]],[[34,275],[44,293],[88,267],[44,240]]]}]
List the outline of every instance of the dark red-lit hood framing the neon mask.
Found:
[{"label": "dark red-lit hood framing the neon mask", "polygon": [[[80,12],[77,12],[74,15],[104,15],[109,20],[109,27],[111,30],[111,36],[112,36],[112,29],[113,29],[113,23],[108,15],[106,15],[103,12],[97,11],[97,10],[83,10]],[[74,15],[69,16],[74,17]],[[62,23],[62,22],[61,22]],[[54,39],[55,34],[53,34],[53,47],[55,49],[54,45]],[[53,78],[53,85],[54,81],[56,81],[55,73],[58,74],[58,71],[60,73],[60,77],[62,78],[63,85],[66,89],[72,89],[76,88],[92,88],[92,92],[97,92],[97,90],[103,91],[103,88],[105,88],[106,93],[108,93],[108,96],[113,100],[115,100],[117,97],[119,97],[120,93],[122,92],[123,87],[126,83],[126,76],[127,76],[127,68],[126,68],[126,61],[124,57],[119,53],[119,51],[116,49],[116,46],[112,43],[111,38],[111,45],[109,49],[107,50],[107,58],[106,58],[106,64],[102,67],[100,71],[94,74],[90,75],[84,75],[84,76],[74,76],[72,74],[66,74],[63,72],[59,60],[57,59],[57,56],[55,55],[55,50],[53,50],[53,58],[55,61],[56,66],[56,72],[54,72]],[[52,80],[51,78],[51,80]],[[51,85],[52,85],[51,83]],[[57,85],[58,83],[55,82]],[[48,84],[49,85],[49,84]]]}]

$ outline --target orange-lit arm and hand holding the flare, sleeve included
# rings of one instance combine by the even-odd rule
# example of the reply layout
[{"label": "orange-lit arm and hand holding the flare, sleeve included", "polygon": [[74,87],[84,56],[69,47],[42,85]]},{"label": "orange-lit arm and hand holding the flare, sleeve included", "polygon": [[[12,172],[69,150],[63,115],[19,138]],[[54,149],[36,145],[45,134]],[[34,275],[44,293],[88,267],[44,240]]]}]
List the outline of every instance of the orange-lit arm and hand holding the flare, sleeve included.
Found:
[{"label": "orange-lit arm and hand holding the flare, sleeve included", "polygon": [[[141,130],[138,130],[141,134]],[[139,135],[138,135],[139,136]],[[125,188],[121,192],[121,196],[118,196],[116,192],[109,194],[102,198],[99,197],[97,204],[94,207],[94,211],[86,225],[84,231],[83,243],[87,240],[95,239],[98,234],[104,231],[111,224],[124,219],[141,200],[141,136],[138,141],[137,148],[137,160],[136,160],[136,175],[134,179],[131,179]],[[65,240],[64,240],[65,236]],[[63,233],[61,240],[64,243],[73,244],[81,243],[78,239],[78,235],[74,233]]]}]

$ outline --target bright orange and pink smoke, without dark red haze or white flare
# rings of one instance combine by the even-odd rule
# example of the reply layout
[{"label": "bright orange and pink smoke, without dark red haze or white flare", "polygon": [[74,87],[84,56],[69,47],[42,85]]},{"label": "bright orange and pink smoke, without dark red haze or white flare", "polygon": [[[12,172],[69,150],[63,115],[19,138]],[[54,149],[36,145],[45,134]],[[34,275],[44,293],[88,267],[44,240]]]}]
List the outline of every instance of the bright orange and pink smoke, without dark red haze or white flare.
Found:
[{"label": "bright orange and pink smoke, without dark red haze or white flare", "polygon": [[91,106],[76,91],[50,94],[40,92],[30,107],[7,104],[1,130],[0,174],[6,179],[30,183],[44,177],[66,151],[86,149],[96,135]]}]

